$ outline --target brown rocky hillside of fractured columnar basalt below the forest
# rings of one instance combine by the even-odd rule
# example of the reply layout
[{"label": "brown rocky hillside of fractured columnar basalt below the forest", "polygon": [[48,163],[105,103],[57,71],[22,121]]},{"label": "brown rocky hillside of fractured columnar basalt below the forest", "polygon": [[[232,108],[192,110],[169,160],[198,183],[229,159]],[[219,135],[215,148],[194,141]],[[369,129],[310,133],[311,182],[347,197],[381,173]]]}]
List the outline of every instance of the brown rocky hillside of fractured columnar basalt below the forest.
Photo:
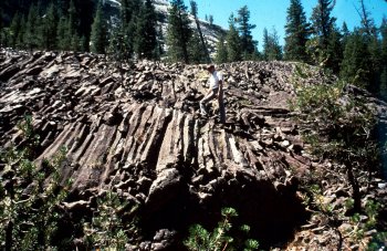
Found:
[{"label": "brown rocky hillside of fractured columnar basalt below the forest", "polygon": [[[101,55],[2,50],[0,145],[21,145],[15,125],[32,114],[40,136],[35,163],[67,149],[61,172],[73,184],[61,208],[69,218],[63,234],[73,234],[74,247],[83,236],[72,222],[91,216],[95,200],[113,190],[129,209],[139,207],[143,234],[128,249],[180,249],[189,224],[212,228],[223,207],[237,209],[262,248],[348,248],[352,239],[335,231],[349,228],[348,220],[333,229],[303,201],[301,184],[315,172],[328,174],[323,199],[337,213],[352,189],[345,170],[307,151],[289,108],[295,65],[219,65],[227,80],[227,123],[220,125],[216,116],[198,116],[207,77],[200,65],[118,65]],[[308,71],[303,84],[328,80]],[[364,201],[386,198],[381,179],[372,186],[362,190]]]}]

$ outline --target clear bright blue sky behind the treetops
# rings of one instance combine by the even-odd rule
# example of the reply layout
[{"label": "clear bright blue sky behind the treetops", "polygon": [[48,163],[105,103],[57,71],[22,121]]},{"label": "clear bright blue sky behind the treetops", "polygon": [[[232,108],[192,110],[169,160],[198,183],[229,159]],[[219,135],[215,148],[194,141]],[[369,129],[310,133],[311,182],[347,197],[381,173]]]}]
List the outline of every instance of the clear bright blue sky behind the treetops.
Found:
[{"label": "clear bright blue sky behind the treetops", "polygon": [[[254,40],[259,42],[259,50],[262,49],[263,29],[269,32],[276,30],[280,36],[280,44],[284,44],[284,25],[286,24],[286,10],[290,0],[196,0],[198,3],[199,19],[205,20],[206,14],[213,17],[213,23],[228,29],[228,19],[233,12],[238,15],[238,10],[248,6],[250,10],[250,23],[257,28],[252,30]],[[310,19],[312,9],[317,4],[317,0],[302,0],[306,18]],[[186,6],[190,9],[189,0],[185,0]],[[380,25],[383,17],[387,18],[387,1],[385,0],[364,0],[367,10],[377,27]],[[360,25],[360,18],[356,11],[359,9],[358,0],[336,0],[336,6],[332,11],[335,17],[336,25],[342,28],[345,21],[348,29]]]}]

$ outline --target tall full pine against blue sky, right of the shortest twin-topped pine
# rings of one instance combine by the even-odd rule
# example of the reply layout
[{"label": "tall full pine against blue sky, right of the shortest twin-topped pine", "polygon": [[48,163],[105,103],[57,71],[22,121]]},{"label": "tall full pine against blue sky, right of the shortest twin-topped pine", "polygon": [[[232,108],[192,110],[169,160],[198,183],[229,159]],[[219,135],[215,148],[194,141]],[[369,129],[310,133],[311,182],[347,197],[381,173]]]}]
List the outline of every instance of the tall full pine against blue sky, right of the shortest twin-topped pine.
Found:
[{"label": "tall full pine against blue sky, right of the shortest twin-topped pine", "polygon": [[307,62],[306,41],[308,36],[310,23],[306,21],[301,0],[291,0],[285,24],[285,60]]}]

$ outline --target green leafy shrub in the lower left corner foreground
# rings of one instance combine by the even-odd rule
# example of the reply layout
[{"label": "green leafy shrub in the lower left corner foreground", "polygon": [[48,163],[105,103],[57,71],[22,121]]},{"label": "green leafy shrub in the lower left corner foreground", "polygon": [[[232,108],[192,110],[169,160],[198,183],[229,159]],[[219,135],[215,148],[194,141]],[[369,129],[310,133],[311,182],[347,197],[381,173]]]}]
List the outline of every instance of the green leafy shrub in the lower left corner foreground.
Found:
[{"label": "green leafy shrub in the lower left corner foreground", "polygon": [[21,149],[2,149],[0,161],[4,164],[0,177],[0,249],[46,250],[53,249],[60,216],[57,206],[66,197],[70,180],[61,186],[60,167],[66,150],[44,160],[44,168],[33,163],[39,137],[27,116],[19,128],[25,144]]}]

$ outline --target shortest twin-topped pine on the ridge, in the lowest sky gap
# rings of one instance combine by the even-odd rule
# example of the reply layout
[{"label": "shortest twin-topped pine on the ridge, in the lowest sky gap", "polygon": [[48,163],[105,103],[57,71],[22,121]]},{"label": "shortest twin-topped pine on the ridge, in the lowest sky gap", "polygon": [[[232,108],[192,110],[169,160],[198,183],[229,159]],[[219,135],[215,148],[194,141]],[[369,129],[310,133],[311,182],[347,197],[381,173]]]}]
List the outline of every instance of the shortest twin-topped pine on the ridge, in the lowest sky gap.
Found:
[{"label": "shortest twin-topped pine on the ridge, in the lowest sky gap", "polygon": [[282,59],[282,48],[279,42],[279,36],[273,28],[273,32],[269,33],[268,29],[263,29],[263,60],[281,60]]}]

